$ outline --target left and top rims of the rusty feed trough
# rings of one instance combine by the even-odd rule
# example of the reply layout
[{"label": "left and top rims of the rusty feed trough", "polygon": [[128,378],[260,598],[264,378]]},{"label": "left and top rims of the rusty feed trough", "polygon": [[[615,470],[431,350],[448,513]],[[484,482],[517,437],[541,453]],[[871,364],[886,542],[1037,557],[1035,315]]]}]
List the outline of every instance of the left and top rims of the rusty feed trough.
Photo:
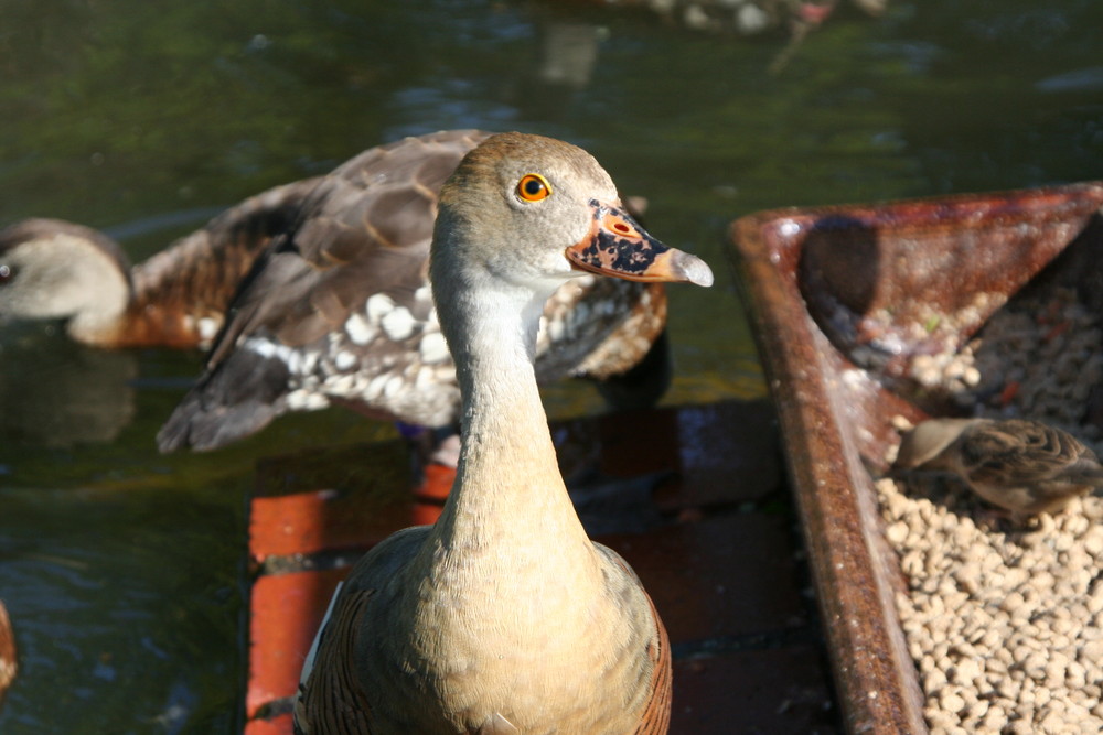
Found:
[{"label": "left and top rims of the rusty feed trough", "polygon": [[900,582],[898,563],[881,531],[871,479],[855,439],[839,430],[844,413],[834,402],[843,399],[825,382],[832,366],[820,352],[826,341],[817,339],[823,335],[804,309],[795,275],[786,278],[778,267],[782,259],[797,258],[799,248],[772,248],[767,227],[785,221],[802,231],[835,216],[858,216],[876,225],[907,213],[910,227],[922,229],[966,210],[995,223],[1024,201],[1037,206],[1045,199],[1057,209],[1077,210],[1086,221],[1091,210],[1103,204],[1103,182],[870,205],[786,207],[748,215],[729,229],[737,290],[764,357],[782,431],[800,439],[786,445],[806,448],[803,454],[786,452],[788,465],[850,733],[929,731],[915,666],[893,602]]}]

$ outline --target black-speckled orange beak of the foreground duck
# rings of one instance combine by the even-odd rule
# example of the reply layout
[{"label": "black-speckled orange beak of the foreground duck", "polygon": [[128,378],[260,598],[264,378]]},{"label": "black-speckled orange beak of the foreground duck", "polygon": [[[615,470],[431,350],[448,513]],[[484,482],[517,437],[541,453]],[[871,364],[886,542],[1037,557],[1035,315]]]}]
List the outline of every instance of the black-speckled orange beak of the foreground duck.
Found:
[{"label": "black-speckled orange beak of the foreground duck", "polygon": [[704,260],[653,238],[618,206],[590,201],[590,234],[566,250],[575,270],[628,281],[671,281],[713,285]]}]

